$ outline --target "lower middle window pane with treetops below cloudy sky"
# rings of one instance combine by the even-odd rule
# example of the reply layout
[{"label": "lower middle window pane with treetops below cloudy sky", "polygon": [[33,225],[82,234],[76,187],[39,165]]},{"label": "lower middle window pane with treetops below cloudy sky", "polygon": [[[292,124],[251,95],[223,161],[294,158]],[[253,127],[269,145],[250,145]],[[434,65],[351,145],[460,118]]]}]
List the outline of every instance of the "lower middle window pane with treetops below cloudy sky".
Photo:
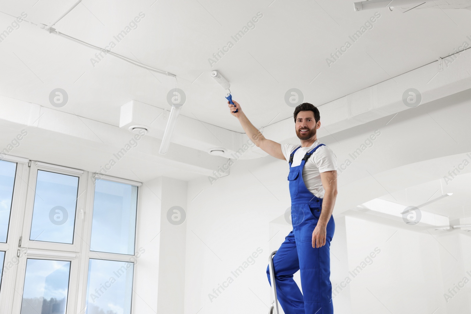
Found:
[{"label": "lower middle window pane with treetops below cloudy sky", "polygon": [[65,314],[69,273],[70,262],[28,258],[21,314]]}]

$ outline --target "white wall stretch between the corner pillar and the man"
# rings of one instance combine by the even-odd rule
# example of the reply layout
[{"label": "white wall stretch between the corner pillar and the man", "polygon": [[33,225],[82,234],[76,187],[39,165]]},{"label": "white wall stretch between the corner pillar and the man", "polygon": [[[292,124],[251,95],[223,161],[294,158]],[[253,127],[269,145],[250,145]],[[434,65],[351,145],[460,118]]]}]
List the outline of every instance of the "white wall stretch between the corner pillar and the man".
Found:
[{"label": "white wall stretch between the corner pillar and the man", "polygon": [[[235,161],[231,175],[213,185],[206,178],[188,184],[185,313],[268,311],[269,222],[290,205],[285,167],[271,157]],[[263,252],[253,265],[238,277],[231,274],[257,248]],[[228,277],[234,282],[211,302],[208,294]]]}]

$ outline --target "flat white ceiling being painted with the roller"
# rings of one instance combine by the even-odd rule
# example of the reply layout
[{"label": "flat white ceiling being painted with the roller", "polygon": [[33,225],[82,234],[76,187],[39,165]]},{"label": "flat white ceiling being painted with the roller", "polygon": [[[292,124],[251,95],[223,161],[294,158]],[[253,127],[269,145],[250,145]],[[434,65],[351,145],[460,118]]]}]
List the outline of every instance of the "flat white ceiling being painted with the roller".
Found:
[{"label": "flat white ceiling being painted with the roller", "polygon": [[[75,0],[6,2],[0,11],[26,12],[26,20],[49,24]],[[83,0],[54,27],[105,47],[143,12],[146,16],[114,52],[174,73],[187,95],[182,114],[242,131],[227,112],[224,90],[210,72],[219,70],[231,91],[260,127],[292,115],[284,93],[300,89],[315,105],[445,57],[471,36],[468,10],[423,9],[400,13],[385,8],[374,28],[329,68],[325,59],[374,15],[354,12],[353,1]],[[208,58],[255,16],[263,18],[213,67]],[[0,32],[13,17],[0,14]],[[233,41],[233,40],[232,40]],[[96,51],[23,23],[0,43],[0,94],[96,121],[119,125],[121,105],[135,99],[170,108],[175,80],[134,67],[113,56],[92,66]],[[452,65],[450,65],[452,66]],[[312,81],[320,72],[316,80]],[[201,75],[200,75],[201,74]],[[52,89],[69,102],[49,104]]]}]

